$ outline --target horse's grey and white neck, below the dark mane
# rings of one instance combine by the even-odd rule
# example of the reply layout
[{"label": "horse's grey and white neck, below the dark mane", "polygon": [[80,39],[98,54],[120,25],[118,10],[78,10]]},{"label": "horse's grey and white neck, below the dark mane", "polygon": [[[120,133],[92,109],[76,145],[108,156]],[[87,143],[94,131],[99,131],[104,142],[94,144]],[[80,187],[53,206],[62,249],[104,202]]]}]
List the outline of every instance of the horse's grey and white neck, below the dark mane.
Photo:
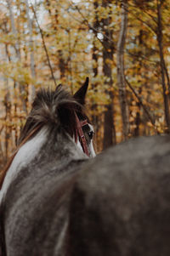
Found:
[{"label": "horse's grey and white neck, below the dark mane", "polygon": [[32,164],[59,165],[62,169],[62,166],[71,161],[85,158],[87,157],[68,134],[55,128],[43,127],[32,139],[26,141],[14,156],[3,181],[2,194],[22,169],[29,168]]}]

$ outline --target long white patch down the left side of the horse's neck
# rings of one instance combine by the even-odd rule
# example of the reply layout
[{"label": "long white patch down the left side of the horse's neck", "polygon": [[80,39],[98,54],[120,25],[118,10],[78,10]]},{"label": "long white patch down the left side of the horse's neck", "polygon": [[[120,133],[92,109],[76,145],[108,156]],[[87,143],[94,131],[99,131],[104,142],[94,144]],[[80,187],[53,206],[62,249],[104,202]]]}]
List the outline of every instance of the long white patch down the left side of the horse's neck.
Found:
[{"label": "long white patch down the left side of the horse's neck", "polygon": [[20,147],[3,181],[3,187],[0,191],[0,202],[2,197],[6,194],[11,181],[20,173],[20,169],[26,167],[38,154],[42,144],[45,142],[46,133],[47,128],[42,128],[33,139],[28,140]]}]

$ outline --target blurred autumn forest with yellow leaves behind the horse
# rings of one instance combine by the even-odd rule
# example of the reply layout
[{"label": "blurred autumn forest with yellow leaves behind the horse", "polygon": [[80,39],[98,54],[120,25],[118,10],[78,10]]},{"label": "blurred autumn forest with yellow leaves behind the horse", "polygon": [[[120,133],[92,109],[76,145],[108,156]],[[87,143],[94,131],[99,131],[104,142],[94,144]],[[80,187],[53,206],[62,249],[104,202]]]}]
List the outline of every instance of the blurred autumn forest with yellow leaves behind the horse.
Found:
[{"label": "blurred autumn forest with yellow leaves behind the horse", "polygon": [[169,0],[1,0],[0,168],[14,151],[37,88],[87,107],[102,151],[170,128]]}]

